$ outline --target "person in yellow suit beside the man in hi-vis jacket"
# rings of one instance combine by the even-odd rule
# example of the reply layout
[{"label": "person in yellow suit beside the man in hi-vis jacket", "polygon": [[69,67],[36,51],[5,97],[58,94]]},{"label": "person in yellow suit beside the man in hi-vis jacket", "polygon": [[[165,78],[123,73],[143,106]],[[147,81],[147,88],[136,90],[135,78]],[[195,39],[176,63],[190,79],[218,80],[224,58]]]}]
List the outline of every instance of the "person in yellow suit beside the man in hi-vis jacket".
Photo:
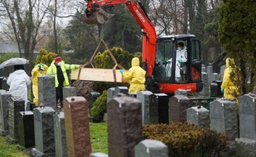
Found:
[{"label": "person in yellow suit beside the man in hi-vis jacket", "polygon": [[48,66],[46,64],[36,64],[35,68],[31,71],[31,80],[32,80],[32,89],[33,89],[33,95],[35,103],[35,106],[38,106],[38,77],[45,75],[46,71],[48,69]]}]

